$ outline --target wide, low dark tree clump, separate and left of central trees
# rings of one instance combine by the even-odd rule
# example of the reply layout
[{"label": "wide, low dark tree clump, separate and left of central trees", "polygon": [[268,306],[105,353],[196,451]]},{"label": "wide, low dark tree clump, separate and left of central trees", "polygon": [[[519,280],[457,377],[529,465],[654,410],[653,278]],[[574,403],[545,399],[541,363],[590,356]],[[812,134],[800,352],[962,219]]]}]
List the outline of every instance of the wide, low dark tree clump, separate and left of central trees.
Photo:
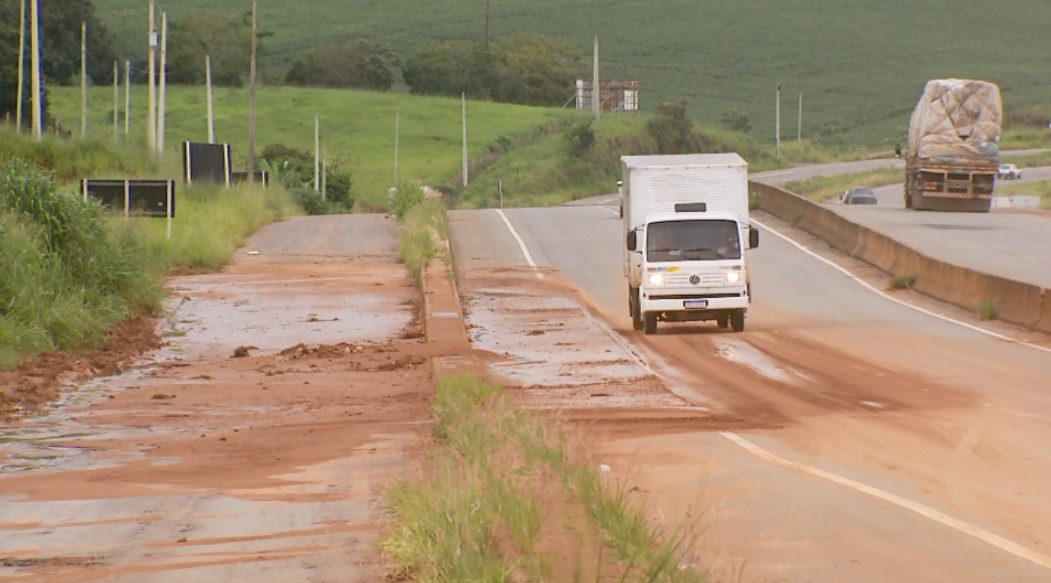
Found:
[{"label": "wide, low dark tree clump, separate and left of central trees", "polygon": [[368,40],[312,48],[289,68],[292,85],[355,87],[390,90],[400,58],[390,48]]}]

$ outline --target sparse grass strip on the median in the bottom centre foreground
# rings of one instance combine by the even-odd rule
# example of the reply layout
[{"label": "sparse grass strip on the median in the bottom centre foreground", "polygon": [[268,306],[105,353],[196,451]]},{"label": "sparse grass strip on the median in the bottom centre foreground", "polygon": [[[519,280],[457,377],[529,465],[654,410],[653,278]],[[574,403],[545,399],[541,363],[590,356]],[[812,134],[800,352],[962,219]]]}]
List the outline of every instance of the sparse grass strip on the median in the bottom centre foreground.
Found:
[{"label": "sparse grass strip on the median in the bottom centre foreground", "polygon": [[[421,477],[386,496],[391,525],[382,547],[398,565],[395,577],[704,580],[685,564],[684,532],[651,526],[623,485],[574,464],[564,436],[515,407],[499,386],[471,375],[439,378],[432,409],[434,447]],[[585,521],[572,520],[575,514]],[[545,535],[582,546],[552,545]]]}]

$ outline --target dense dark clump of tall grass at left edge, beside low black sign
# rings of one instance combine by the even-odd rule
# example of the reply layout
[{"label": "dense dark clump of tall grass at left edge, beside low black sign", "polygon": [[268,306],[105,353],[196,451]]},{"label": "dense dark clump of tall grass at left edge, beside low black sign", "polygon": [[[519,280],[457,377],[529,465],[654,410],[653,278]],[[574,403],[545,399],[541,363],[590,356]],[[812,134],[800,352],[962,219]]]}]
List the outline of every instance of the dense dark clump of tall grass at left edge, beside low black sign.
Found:
[{"label": "dense dark clump of tall grass at left edge, beside low black sign", "polygon": [[160,308],[159,271],[100,207],[22,162],[0,166],[0,365],[98,346],[108,326]]}]

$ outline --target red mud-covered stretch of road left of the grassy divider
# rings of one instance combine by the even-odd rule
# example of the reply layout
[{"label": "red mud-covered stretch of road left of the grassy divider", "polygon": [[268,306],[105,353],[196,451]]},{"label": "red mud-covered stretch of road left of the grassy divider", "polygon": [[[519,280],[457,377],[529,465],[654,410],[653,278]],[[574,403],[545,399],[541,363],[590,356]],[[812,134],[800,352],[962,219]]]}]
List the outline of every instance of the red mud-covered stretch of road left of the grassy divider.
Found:
[{"label": "red mud-covered stretch of road left of the grassy divider", "polygon": [[171,280],[161,348],[0,425],[0,578],[385,576],[382,492],[466,335],[427,337],[450,309],[390,254],[249,251]]}]

